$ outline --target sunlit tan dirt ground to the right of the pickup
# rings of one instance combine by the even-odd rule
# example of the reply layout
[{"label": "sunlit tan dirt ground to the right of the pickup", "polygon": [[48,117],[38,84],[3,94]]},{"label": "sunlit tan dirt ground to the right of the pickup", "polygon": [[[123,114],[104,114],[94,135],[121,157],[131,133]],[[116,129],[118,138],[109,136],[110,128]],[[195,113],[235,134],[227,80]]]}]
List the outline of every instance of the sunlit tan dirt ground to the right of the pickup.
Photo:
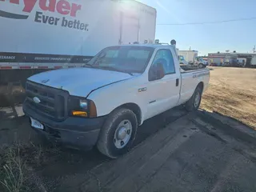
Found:
[{"label": "sunlit tan dirt ground to the right of the pickup", "polygon": [[210,67],[210,87],[201,108],[235,118],[256,130],[256,69]]}]

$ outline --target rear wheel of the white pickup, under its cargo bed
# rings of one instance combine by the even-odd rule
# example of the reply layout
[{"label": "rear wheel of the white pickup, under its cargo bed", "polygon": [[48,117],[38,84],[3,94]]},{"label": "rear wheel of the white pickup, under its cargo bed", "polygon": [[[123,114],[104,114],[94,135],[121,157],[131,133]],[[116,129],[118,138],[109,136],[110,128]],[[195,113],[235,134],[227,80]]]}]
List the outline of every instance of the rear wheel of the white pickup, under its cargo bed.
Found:
[{"label": "rear wheel of the white pickup, under its cargo bed", "polygon": [[202,88],[200,86],[197,86],[190,100],[186,102],[186,110],[189,112],[198,110],[201,100],[202,100]]}]

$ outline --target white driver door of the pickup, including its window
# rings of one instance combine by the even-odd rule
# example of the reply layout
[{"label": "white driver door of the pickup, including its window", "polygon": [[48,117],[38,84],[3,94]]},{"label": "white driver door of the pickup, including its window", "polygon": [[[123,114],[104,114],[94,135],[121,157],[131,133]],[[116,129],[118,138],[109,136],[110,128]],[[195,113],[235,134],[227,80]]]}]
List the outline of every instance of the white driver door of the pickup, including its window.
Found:
[{"label": "white driver door of the pickup, including its window", "polygon": [[[152,70],[158,62],[162,63],[165,76],[160,79],[150,80],[147,84],[147,111],[146,118],[169,110],[176,106],[179,100],[180,75],[176,74],[174,58],[171,50],[159,49],[155,54],[154,61],[150,66]],[[150,74],[149,70],[149,74]]]}]

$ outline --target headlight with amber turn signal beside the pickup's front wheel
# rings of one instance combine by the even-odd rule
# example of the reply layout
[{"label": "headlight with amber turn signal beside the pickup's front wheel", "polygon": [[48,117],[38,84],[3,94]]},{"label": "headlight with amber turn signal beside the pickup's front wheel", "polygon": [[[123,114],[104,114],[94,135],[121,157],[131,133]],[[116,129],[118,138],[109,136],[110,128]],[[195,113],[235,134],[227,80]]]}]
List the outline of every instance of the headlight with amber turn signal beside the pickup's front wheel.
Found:
[{"label": "headlight with amber turn signal beside the pickup's front wheel", "polygon": [[69,111],[70,115],[75,117],[97,117],[97,110],[94,102],[85,98],[70,96]]}]

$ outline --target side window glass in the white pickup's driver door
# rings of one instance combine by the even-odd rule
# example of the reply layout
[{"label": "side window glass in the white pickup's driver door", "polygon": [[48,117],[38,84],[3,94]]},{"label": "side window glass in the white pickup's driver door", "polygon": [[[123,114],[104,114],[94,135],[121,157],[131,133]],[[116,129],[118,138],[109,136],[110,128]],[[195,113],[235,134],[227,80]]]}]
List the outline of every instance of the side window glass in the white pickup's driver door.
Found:
[{"label": "side window glass in the white pickup's driver door", "polygon": [[158,50],[152,65],[157,65],[158,62],[162,63],[165,74],[175,74],[174,58],[170,50]]}]

